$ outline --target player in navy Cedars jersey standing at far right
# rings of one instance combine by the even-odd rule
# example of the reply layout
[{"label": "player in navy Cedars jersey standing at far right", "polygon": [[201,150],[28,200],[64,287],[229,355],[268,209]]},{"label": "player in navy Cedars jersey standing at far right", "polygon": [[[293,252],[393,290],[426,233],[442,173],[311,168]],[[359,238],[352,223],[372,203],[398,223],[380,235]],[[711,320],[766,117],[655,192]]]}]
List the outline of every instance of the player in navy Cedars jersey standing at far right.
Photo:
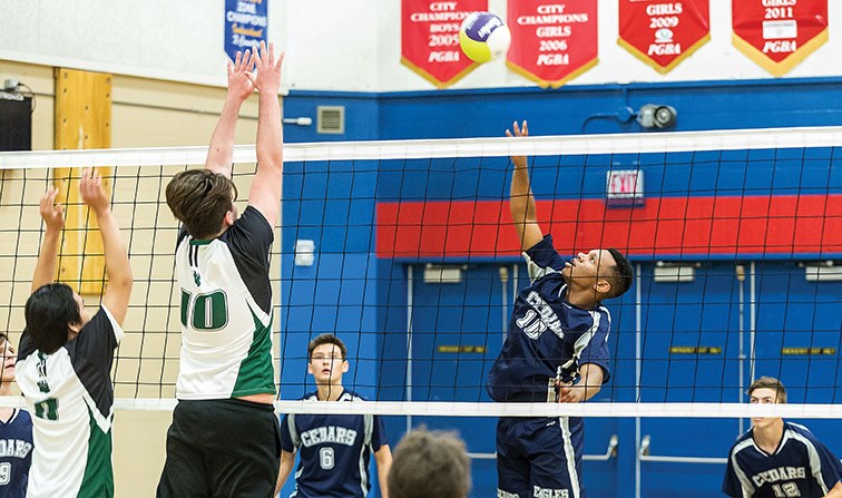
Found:
[{"label": "player in navy Cedars jersey standing at far right", "polygon": [[[761,377],[748,387],[752,403],[785,403],[781,381]],[[842,498],[842,463],[804,426],[754,418],[728,453],[722,490],[734,498]]]}]

